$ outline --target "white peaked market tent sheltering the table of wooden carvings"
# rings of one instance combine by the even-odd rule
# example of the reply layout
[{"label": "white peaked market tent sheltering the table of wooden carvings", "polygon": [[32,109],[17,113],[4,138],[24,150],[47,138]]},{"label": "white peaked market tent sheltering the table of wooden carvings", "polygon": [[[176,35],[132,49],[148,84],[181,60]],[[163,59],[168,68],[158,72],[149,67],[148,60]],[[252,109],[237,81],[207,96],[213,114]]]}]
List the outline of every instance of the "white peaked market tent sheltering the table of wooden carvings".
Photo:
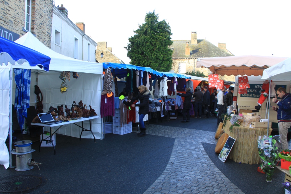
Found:
[{"label": "white peaked market tent sheltering the table of wooden carvings", "polygon": [[[31,88],[38,85],[43,95],[43,111],[47,112],[50,106],[57,107],[57,105],[67,105],[68,108],[72,106],[73,101],[78,103],[80,100],[83,104],[92,106],[97,115],[100,115],[100,101],[102,92],[102,63],[93,63],[82,60],[77,60],[67,56],[58,54],[43,45],[31,33],[26,33],[24,36],[15,41],[16,43],[25,47],[31,48],[51,58],[49,64],[49,72],[40,69],[40,67],[31,67],[27,62],[22,65],[11,65],[11,68],[31,69]],[[0,68],[7,68],[7,66],[0,66]],[[68,91],[60,92],[62,80],[59,78],[61,71],[78,72],[79,78],[73,79],[71,76],[70,82],[66,80]],[[3,76],[1,75],[1,79]],[[9,77],[8,77],[9,79]],[[15,81],[13,83],[15,88]],[[11,86],[10,86],[11,88]],[[14,89],[15,90],[15,89]],[[14,95],[14,92],[13,92]],[[4,97],[3,97],[4,98]],[[9,97],[7,97],[9,98]],[[13,101],[14,102],[14,101]],[[12,100],[10,102],[12,104]],[[30,91],[30,105],[35,106],[36,95],[34,90]],[[1,106],[1,105],[0,105]],[[0,108],[1,109],[1,108]],[[92,131],[96,138],[102,139],[102,120],[100,118],[91,121]],[[84,128],[89,129],[89,122],[84,122]],[[49,130],[49,129],[45,129]],[[54,131],[54,129],[52,129]],[[79,137],[81,130],[76,125],[64,125],[58,133]],[[91,132],[82,134],[82,138],[93,138]],[[10,166],[11,166],[10,154]]]}]

